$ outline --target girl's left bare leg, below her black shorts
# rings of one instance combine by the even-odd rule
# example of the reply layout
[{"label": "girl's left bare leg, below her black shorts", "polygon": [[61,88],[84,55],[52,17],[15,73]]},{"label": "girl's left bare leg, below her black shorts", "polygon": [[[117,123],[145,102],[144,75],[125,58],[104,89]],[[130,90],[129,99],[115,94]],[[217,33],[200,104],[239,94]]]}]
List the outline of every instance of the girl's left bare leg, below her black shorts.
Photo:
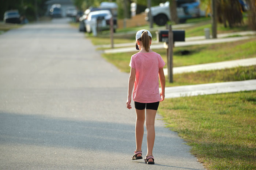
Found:
[{"label": "girl's left bare leg, below her black shorts", "polygon": [[[143,110],[135,109],[135,111],[137,115],[136,125],[135,125],[136,151],[141,151],[142,139],[144,134],[145,109]],[[140,157],[141,154],[138,154],[137,156]]]}]

